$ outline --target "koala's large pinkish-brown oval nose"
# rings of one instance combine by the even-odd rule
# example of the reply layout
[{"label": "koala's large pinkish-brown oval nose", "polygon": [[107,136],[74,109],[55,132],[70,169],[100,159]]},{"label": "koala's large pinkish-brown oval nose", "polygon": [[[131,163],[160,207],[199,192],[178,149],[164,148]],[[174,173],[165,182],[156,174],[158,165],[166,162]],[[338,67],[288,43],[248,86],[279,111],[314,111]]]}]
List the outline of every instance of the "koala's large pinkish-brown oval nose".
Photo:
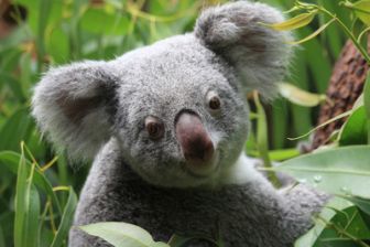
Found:
[{"label": "koala's large pinkish-brown oval nose", "polygon": [[200,118],[194,112],[183,111],[177,116],[175,127],[186,161],[191,165],[208,164],[215,148]]}]

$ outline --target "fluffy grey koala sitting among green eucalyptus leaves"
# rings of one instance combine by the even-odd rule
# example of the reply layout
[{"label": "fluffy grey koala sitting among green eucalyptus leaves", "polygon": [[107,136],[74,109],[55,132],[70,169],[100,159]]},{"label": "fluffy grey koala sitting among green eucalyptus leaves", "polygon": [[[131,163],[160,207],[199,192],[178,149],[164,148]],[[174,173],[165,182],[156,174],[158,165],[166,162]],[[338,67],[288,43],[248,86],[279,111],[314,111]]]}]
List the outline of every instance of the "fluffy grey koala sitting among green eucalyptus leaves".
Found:
[{"label": "fluffy grey koala sitting among green eucalyptus leaves", "polygon": [[[155,240],[186,246],[293,246],[327,195],[276,190],[244,152],[246,93],[275,95],[291,57],[283,21],[250,1],[211,7],[192,33],[112,61],[51,68],[36,85],[33,116],[73,159],[94,159],[74,225],[126,222]],[[69,246],[110,246],[78,228]]]}]

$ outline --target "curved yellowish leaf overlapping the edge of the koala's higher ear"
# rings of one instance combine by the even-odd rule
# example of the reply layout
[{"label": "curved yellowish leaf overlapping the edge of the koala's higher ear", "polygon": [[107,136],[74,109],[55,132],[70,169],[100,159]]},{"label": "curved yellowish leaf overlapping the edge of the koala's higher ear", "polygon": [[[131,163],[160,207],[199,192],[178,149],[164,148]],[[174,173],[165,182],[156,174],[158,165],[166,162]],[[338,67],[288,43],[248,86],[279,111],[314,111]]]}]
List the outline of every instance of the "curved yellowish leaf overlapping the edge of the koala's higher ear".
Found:
[{"label": "curved yellowish leaf overlapping the edge of the koala's higher ear", "polygon": [[274,23],[274,24],[266,24],[263,23],[263,25],[266,25],[271,29],[274,29],[276,31],[290,31],[303,28],[305,25],[308,25],[315,18],[317,11],[311,11],[308,13],[302,13],[298,14],[292,19],[289,19],[284,22]]}]

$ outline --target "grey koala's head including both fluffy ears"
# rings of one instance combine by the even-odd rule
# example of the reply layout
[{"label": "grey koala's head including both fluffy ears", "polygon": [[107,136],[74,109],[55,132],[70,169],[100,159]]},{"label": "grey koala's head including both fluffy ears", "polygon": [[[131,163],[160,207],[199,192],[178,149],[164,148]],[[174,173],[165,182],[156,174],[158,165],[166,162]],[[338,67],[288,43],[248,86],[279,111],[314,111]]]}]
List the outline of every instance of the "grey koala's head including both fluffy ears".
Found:
[{"label": "grey koala's head including both fluffy ears", "polygon": [[91,158],[115,138],[124,163],[150,183],[213,183],[243,149],[246,93],[271,98],[284,74],[289,33],[261,24],[280,21],[261,3],[207,9],[193,33],[50,69],[35,87],[33,115],[70,157]]}]

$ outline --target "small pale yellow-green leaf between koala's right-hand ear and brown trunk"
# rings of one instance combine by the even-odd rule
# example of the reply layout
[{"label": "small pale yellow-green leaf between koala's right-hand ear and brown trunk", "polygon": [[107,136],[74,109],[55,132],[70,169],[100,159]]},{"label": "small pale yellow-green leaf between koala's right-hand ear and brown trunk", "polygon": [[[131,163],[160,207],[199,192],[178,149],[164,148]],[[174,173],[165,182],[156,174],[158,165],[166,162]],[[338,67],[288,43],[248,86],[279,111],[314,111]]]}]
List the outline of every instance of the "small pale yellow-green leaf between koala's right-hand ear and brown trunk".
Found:
[{"label": "small pale yellow-green leaf between koala's right-hand ear and brown trunk", "polygon": [[289,83],[280,83],[279,92],[291,103],[305,107],[317,106],[326,99],[326,95],[312,94]]}]

